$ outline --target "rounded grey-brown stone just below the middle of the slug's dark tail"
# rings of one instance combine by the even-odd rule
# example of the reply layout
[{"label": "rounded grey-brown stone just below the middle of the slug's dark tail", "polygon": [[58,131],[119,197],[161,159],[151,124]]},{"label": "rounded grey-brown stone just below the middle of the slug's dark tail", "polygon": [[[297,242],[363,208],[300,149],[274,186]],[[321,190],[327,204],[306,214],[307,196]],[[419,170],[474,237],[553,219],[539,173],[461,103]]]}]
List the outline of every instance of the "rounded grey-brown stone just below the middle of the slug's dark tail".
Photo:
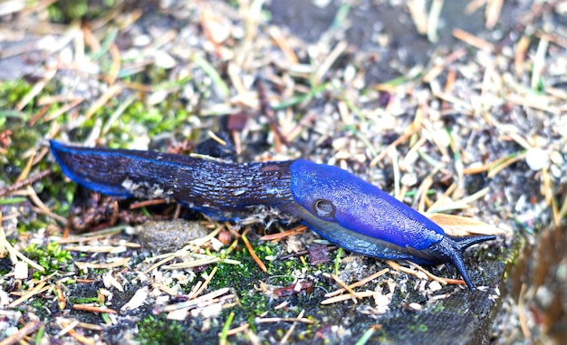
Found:
[{"label": "rounded grey-brown stone just below the middle of the slug's dark tail", "polygon": [[207,235],[207,228],[199,222],[184,219],[171,221],[150,220],[140,225],[139,242],[154,253],[175,252],[187,243]]}]

